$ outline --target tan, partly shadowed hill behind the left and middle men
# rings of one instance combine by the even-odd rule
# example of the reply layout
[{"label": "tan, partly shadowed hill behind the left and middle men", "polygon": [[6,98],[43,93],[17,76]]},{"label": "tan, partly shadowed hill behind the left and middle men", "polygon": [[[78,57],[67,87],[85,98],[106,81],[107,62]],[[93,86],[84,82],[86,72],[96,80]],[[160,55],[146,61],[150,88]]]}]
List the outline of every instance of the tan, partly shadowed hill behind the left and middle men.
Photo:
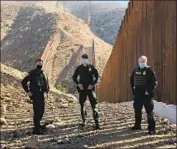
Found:
[{"label": "tan, partly shadowed hill behind the left and middle men", "polygon": [[[102,75],[112,46],[95,36],[83,20],[56,8],[55,3],[14,2],[3,4],[1,9],[3,64],[29,71],[35,67],[35,60],[43,54],[47,45],[52,43],[49,44],[51,53],[47,58],[50,65],[46,66],[50,82],[57,85],[69,81],[71,86],[71,75],[76,67],[74,57],[80,63],[78,49],[82,45],[83,49],[91,50],[94,39],[96,67]],[[57,36],[52,38],[54,35]]]}]

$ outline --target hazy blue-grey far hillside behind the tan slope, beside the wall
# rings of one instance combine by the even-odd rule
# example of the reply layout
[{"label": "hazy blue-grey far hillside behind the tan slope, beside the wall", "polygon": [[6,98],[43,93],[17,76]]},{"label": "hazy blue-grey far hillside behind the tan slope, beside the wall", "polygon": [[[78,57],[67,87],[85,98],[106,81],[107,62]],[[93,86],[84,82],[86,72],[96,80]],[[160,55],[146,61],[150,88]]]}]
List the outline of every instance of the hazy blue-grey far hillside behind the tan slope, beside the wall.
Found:
[{"label": "hazy blue-grey far hillside behind the tan slope, beside the wall", "polygon": [[118,2],[89,2],[62,1],[60,6],[73,15],[88,22],[89,9],[91,10],[90,28],[95,35],[109,44],[114,44],[117,31],[125,13],[125,7]]}]

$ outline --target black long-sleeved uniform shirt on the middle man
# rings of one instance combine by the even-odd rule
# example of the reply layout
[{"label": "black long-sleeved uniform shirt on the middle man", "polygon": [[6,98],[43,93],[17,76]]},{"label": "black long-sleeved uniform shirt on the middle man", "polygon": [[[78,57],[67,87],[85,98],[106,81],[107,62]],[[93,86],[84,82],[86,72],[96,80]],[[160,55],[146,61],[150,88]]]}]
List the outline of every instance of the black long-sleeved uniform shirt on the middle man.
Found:
[{"label": "black long-sleeved uniform shirt on the middle man", "polygon": [[[79,76],[79,80],[78,80]],[[86,67],[82,64],[79,65],[72,78],[76,84],[83,84],[84,88],[88,88],[89,85],[95,85],[98,81],[98,71],[93,65],[87,65]]]}]

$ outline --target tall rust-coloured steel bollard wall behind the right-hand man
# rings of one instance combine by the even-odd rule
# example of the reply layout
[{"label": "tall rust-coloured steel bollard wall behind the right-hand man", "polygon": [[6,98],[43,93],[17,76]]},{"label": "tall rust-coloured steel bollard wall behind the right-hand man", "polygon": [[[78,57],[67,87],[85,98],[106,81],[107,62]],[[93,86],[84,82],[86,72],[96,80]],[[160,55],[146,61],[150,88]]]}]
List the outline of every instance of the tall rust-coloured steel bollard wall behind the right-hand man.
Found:
[{"label": "tall rust-coloured steel bollard wall behind the right-hand man", "polygon": [[140,55],[158,79],[157,101],[176,104],[176,1],[130,1],[97,88],[99,101],[132,100],[130,74]]}]

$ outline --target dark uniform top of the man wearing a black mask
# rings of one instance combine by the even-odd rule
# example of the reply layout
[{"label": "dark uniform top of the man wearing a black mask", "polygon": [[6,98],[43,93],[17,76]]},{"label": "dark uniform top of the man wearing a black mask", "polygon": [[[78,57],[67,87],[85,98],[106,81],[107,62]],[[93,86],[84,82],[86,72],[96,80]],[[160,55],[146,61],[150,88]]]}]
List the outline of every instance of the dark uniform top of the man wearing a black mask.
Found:
[{"label": "dark uniform top of the man wearing a black mask", "polygon": [[[27,82],[30,82],[30,87],[28,89]],[[29,74],[21,82],[23,89],[28,92],[48,92],[49,84],[47,75],[43,70],[34,69],[29,72]]]}]

